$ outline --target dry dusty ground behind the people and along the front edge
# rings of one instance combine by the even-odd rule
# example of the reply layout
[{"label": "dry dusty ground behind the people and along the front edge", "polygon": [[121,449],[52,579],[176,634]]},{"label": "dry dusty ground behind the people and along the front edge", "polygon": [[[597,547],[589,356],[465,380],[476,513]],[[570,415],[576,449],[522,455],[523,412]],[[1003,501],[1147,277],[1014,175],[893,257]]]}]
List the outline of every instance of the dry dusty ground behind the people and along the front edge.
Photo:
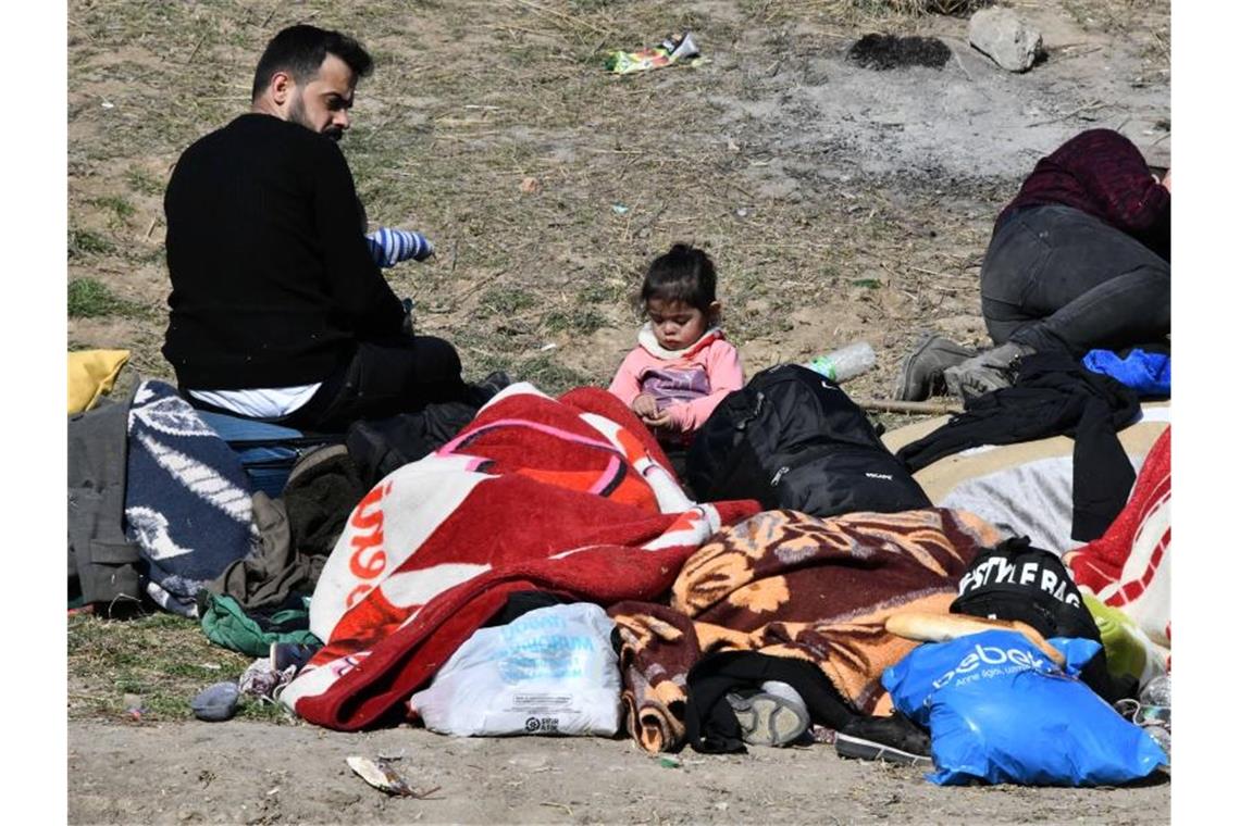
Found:
[{"label": "dry dusty ground behind the people and along the front edge", "polygon": [[[160,198],[197,136],[244,110],[279,27],[358,35],[377,57],[342,147],[372,225],[425,232],[391,272],[467,378],[548,391],[604,384],[632,346],[626,298],[675,240],[707,246],[746,373],[864,338],[888,396],[916,332],[981,344],[977,267],[1024,173],[1087,128],[1169,163],[1169,1],[1009,2],[1047,59],[1011,74],[967,19],[882,4],[735,0],[69,2],[69,259],[110,295],[68,346],[159,354],[167,280]],[[260,6],[260,7],[259,7]],[[609,48],[692,28],[709,58],[629,78]],[[939,36],[941,69],[864,69],[861,35]],[[166,90],[187,90],[170,105]],[[522,182],[532,178],[533,185]],[[71,671],[69,691],[78,677]],[[71,822],[1166,822],[1169,783],[1135,789],[940,789],[833,749],[686,753],[625,741],[449,741],[402,727],[71,719]],[[404,754],[427,800],[388,799],[345,757]]]}]

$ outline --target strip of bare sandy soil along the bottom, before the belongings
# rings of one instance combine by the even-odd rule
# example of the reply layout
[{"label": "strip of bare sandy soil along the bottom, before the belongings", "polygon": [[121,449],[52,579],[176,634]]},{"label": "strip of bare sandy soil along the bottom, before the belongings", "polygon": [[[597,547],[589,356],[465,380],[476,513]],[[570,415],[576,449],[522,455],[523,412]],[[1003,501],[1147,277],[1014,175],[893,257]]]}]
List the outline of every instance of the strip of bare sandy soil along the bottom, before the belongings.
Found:
[{"label": "strip of bare sandy soil along the bottom, before the belongings", "polygon": [[[920,769],[830,746],[686,752],[666,768],[630,742],[460,738],[397,728],[78,723],[77,824],[1164,824],[1171,784],[1128,789],[940,788]],[[397,757],[424,800],[389,798],[345,758]]]}]

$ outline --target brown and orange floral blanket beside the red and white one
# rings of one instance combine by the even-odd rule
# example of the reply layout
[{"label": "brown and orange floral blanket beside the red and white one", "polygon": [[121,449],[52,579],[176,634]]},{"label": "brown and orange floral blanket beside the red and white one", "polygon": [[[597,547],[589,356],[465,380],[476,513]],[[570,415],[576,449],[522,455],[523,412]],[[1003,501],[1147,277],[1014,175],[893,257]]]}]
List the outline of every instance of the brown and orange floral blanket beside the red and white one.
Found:
[{"label": "brown and orange floral blanket beside the red and white one", "polygon": [[770,510],[724,528],[684,563],[670,606],[609,611],[624,640],[629,731],[647,752],[683,746],[689,669],[728,650],[807,660],[859,712],[890,713],[883,669],[915,643],[884,622],[946,614],[973,556],[1001,539],[946,508],[830,519]]}]

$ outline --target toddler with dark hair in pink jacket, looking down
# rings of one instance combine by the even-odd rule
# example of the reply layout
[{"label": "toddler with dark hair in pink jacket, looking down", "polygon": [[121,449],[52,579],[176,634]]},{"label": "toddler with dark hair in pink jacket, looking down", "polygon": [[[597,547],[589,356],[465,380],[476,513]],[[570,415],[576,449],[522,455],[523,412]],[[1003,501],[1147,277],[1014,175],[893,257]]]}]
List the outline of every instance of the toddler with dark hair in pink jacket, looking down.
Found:
[{"label": "toddler with dark hair in pink jacket, looking down", "polygon": [[641,285],[649,318],[609,390],[661,442],[684,447],[711,412],[744,385],[740,354],[718,327],[714,264],[676,244],[651,263]]}]

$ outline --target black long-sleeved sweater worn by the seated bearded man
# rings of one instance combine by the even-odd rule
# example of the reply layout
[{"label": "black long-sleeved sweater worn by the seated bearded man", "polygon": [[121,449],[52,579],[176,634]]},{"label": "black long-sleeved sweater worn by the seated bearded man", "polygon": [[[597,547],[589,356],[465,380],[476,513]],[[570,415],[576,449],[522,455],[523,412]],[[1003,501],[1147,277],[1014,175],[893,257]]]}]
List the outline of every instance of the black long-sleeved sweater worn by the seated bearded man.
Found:
[{"label": "black long-sleeved sweater worn by the seated bearded man", "polygon": [[246,114],[181,155],[164,196],[171,313],[164,357],[184,388],[325,379],[404,311],[363,235],[335,141]]}]

